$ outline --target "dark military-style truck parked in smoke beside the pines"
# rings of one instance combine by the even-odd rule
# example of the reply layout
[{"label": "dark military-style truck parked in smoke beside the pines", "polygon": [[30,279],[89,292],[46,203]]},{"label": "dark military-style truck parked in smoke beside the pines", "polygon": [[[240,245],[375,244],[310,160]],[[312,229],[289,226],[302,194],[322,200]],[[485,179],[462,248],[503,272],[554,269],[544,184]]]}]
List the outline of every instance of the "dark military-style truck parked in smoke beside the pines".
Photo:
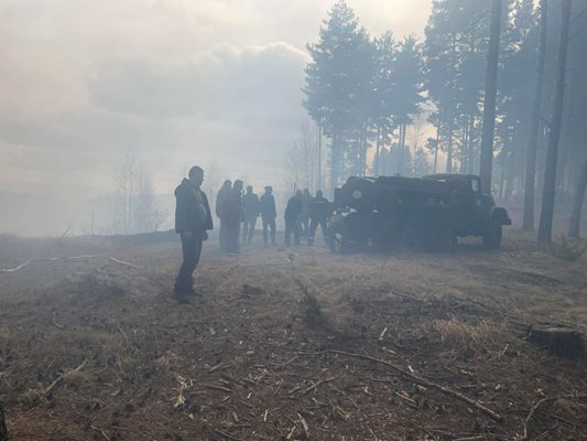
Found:
[{"label": "dark military-style truck parked in smoke beside the pines", "polygon": [[455,250],[458,237],[481,236],[483,246],[501,245],[506,208],[482,192],[479,176],[351,176],[335,190],[330,246],[346,251],[372,245]]}]

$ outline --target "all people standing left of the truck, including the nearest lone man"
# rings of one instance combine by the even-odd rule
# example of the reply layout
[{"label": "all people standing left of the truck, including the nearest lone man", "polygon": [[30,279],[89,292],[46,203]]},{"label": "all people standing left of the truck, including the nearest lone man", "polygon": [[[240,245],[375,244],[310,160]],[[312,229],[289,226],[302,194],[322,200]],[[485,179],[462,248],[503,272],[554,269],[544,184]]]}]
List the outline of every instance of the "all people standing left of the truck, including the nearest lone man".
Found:
[{"label": "all people standing left of the truck, including the nearest lone man", "polygon": [[[204,170],[194,165],[182,183],[175,189],[175,232],[181,235],[183,262],[175,279],[174,299],[180,303],[189,303],[191,297],[197,295],[194,290],[193,273],[199,262],[202,246],[208,238],[207,232],[213,229],[210,206],[200,186],[204,182]],[[251,185],[242,194],[243,182],[233,183],[226,180],[216,196],[216,216],[220,219],[220,248],[227,252],[238,252],[240,240],[251,243],[261,217],[263,241],[265,246],[276,245],[275,220],[278,211],[273,189],[265,186],[259,197]],[[285,207],[285,246],[301,245],[302,237],[312,246],[318,226],[324,238],[328,238],[328,216],[331,204],[322,191],[312,197],[306,189],[296,191]],[[241,237],[242,232],[242,237]]]}]

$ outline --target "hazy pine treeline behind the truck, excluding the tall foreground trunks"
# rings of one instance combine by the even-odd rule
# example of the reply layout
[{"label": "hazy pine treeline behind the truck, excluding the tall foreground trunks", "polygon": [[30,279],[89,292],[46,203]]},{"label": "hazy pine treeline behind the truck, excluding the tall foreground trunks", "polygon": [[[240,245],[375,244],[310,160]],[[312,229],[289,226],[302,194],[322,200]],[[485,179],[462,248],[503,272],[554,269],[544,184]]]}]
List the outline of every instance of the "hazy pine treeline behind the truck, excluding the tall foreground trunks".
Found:
[{"label": "hazy pine treeline behind the truck, excluding the tall foreground trunks", "polygon": [[[423,41],[396,40],[391,30],[372,37],[344,0],[331,8],[318,42],[308,44],[303,103],[327,139],[331,187],[349,174],[417,174],[426,159],[431,171],[479,173],[491,3],[435,0]],[[575,1],[569,22],[556,179],[562,200],[579,185],[587,155],[585,8]],[[533,192],[542,192],[562,20],[559,0],[503,1],[491,190],[506,203],[523,202],[532,130]],[[532,127],[537,80],[542,99]],[[406,133],[417,133],[423,119],[434,135],[422,142],[413,136],[407,146]]]}]

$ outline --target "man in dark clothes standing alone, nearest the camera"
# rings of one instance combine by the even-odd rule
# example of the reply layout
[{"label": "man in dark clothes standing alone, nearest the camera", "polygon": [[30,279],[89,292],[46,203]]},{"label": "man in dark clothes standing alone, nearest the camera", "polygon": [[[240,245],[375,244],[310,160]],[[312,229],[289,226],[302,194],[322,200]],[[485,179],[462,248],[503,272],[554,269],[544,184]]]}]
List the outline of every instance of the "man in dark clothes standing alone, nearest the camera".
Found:
[{"label": "man in dark clothes standing alone, nearest the camera", "polygon": [[175,189],[175,233],[182,237],[183,262],[173,297],[180,303],[189,303],[188,295],[196,295],[193,273],[199,262],[203,241],[208,238],[206,230],[213,229],[208,198],[199,189],[204,170],[195,165],[188,176]]}]

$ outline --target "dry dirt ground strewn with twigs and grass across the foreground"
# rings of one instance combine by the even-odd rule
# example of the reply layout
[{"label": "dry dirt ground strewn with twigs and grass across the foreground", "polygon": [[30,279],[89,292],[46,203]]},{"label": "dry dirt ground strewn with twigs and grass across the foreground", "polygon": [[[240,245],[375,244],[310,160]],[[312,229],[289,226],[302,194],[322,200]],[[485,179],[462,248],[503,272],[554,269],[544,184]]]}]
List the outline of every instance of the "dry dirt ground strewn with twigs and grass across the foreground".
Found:
[{"label": "dry dirt ground strewn with twigs and grass across the foreground", "polygon": [[[258,238],[259,240],[259,238]],[[211,240],[171,299],[175,240],[0,237],[12,440],[587,440],[587,258],[503,248],[333,256]]]}]

